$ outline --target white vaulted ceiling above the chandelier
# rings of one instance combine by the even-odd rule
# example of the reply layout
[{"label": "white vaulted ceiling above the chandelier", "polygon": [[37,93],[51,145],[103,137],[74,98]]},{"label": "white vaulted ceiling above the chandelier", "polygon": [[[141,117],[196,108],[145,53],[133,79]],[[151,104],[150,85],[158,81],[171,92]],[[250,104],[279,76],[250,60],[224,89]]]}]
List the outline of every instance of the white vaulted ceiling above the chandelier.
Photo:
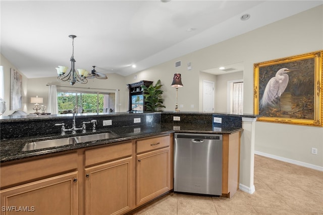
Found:
[{"label": "white vaulted ceiling above the chandelier", "polygon": [[74,34],[76,68],[127,76],[322,3],[1,0],[0,48],[27,78],[54,77]]}]

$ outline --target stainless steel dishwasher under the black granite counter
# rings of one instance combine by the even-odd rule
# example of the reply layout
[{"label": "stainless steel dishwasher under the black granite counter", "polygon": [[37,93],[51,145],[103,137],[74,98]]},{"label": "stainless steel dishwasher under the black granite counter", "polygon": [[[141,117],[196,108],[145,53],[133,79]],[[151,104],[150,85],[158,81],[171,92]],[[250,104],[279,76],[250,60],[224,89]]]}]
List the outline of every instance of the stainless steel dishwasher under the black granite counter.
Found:
[{"label": "stainless steel dishwasher under the black granite counter", "polygon": [[174,137],[174,192],[222,195],[222,135]]}]

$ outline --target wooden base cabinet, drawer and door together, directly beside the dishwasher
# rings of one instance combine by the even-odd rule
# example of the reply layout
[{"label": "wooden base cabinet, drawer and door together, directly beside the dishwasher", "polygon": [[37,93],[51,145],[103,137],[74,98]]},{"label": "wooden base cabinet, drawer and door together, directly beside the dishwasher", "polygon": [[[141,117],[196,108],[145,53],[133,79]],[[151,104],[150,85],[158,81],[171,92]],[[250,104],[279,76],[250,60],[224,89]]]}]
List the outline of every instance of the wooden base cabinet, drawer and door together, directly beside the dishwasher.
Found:
[{"label": "wooden base cabinet, drawer and door together, directly beside the dishwasher", "polygon": [[137,141],[136,204],[173,189],[173,147],[170,135]]}]

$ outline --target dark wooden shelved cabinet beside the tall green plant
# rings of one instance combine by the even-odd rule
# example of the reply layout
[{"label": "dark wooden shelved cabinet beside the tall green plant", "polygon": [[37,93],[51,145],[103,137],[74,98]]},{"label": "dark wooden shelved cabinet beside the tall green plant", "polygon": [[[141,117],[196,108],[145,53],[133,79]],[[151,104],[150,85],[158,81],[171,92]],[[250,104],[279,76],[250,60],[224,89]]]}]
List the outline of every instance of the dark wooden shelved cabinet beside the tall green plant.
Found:
[{"label": "dark wooden shelved cabinet beside the tall green plant", "polygon": [[129,111],[146,111],[145,99],[141,85],[149,87],[152,83],[152,81],[139,81],[127,84],[129,89]]}]

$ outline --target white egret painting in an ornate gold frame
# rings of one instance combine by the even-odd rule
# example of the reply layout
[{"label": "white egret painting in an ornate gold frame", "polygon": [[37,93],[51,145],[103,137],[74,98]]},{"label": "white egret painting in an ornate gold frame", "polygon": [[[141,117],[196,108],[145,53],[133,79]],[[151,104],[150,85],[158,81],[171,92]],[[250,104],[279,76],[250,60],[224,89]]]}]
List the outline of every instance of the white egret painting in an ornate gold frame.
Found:
[{"label": "white egret painting in an ornate gold frame", "polygon": [[254,64],[257,121],[322,126],[323,50]]}]

